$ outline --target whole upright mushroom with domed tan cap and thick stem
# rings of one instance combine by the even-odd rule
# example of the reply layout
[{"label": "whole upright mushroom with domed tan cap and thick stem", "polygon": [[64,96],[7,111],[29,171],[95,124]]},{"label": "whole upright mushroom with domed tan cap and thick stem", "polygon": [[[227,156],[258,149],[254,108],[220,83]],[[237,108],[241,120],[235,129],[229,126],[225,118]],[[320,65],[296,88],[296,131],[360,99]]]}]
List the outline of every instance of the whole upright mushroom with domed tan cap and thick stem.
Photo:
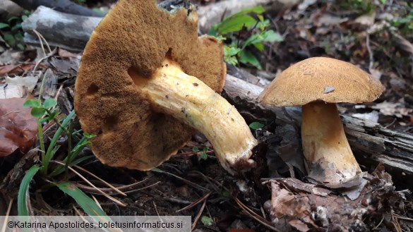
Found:
[{"label": "whole upright mushroom with domed tan cap and thick stem", "polygon": [[314,57],[283,71],[258,101],[272,106],[302,106],[301,140],[310,176],[342,183],[361,169],[335,103],[373,102],[383,90],[378,80],[351,63]]}]

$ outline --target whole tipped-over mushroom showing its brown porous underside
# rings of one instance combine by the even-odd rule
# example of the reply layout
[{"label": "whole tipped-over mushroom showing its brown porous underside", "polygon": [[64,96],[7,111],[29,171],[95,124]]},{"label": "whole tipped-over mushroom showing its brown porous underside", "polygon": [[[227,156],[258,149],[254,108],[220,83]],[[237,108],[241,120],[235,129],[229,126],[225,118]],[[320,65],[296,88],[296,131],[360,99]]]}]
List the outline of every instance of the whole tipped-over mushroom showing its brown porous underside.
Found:
[{"label": "whole tipped-over mushroom showing its brown porous underside", "polygon": [[[253,166],[253,138],[219,92],[226,67],[222,43],[198,37],[198,16],[155,0],[120,0],[85,47],[75,109],[92,151],[104,163],[149,170],[195,132],[204,133],[229,173]],[[218,92],[218,93],[217,93]]]}]

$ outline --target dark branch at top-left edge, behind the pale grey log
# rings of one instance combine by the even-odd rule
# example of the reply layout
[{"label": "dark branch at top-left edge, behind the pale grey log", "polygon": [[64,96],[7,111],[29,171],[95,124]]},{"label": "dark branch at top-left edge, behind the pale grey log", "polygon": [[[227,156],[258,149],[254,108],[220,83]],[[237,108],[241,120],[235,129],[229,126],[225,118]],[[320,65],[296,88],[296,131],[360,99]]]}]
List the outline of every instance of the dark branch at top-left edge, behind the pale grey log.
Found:
[{"label": "dark branch at top-left edge, behind the pale grey log", "polygon": [[103,13],[92,11],[90,8],[80,6],[69,0],[11,0],[19,6],[28,9],[35,10],[38,6],[47,6],[54,8],[56,11],[71,13],[78,16],[104,16]]}]

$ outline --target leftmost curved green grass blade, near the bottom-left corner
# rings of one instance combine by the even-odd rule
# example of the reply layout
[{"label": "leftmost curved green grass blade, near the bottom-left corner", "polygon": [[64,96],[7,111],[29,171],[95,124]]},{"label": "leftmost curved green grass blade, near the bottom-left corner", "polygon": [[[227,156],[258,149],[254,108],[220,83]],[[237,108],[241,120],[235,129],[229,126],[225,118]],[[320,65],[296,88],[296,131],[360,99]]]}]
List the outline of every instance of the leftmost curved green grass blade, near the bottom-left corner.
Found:
[{"label": "leftmost curved green grass blade, near the bottom-left corner", "polygon": [[26,199],[30,197],[28,195],[29,185],[32,181],[33,176],[36,175],[37,171],[39,171],[40,166],[33,165],[23,177],[23,180],[20,183],[20,188],[18,190],[18,197],[17,197],[17,209],[19,216],[29,216],[29,209]]}]

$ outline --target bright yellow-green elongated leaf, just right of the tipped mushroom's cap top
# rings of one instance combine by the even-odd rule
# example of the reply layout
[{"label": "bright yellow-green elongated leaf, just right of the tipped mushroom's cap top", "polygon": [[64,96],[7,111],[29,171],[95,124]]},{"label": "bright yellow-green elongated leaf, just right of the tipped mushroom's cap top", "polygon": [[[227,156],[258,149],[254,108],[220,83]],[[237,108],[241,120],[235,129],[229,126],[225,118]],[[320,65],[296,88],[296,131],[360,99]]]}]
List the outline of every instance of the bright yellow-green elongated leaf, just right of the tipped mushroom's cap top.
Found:
[{"label": "bright yellow-green elongated leaf, just right of the tipped mushroom's cap top", "polygon": [[224,20],[217,26],[217,32],[221,35],[226,35],[230,32],[237,32],[242,30],[242,28],[249,28],[255,25],[257,20],[252,16],[240,15],[230,20]]}]

